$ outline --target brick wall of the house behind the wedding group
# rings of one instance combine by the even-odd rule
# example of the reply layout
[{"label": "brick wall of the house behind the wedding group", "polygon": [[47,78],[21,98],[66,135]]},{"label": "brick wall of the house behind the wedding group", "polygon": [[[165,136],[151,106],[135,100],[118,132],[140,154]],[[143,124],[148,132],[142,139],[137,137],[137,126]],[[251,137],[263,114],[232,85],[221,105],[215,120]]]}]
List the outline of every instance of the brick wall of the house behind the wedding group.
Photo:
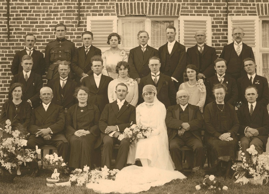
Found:
[{"label": "brick wall of the house behind the wedding group", "polygon": [[[7,39],[7,1],[10,1],[10,39]],[[57,23],[67,26],[67,38],[76,47],[86,30],[87,16],[211,16],[212,46],[217,54],[227,44],[227,0],[5,0],[0,2],[0,106],[5,102],[12,77],[10,66],[15,53],[24,48],[27,32],[36,35],[35,48],[44,53],[46,42],[55,39]],[[229,0],[229,15],[268,16],[268,0]],[[44,80],[45,83],[45,80]]]}]

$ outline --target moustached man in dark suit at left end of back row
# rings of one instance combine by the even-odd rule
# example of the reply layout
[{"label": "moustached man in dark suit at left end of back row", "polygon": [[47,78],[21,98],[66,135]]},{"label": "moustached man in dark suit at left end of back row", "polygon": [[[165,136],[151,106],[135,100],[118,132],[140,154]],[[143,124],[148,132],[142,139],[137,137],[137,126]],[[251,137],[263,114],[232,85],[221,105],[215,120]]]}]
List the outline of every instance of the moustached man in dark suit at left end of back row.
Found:
[{"label": "moustached man in dark suit at left end of back row", "polygon": [[12,75],[17,75],[19,72],[22,72],[22,57],[24,55],[29,55],[33,58],[33,68],[32,71],[39,75],[44,75],[46,71],[45,59],[43,53],[34,49],[34,45],[36,43],[36,37],[27,33],[24,37],[25,39],[25,49],[19,51],[15,54],[12,65],[11,65],[11,73]]}]

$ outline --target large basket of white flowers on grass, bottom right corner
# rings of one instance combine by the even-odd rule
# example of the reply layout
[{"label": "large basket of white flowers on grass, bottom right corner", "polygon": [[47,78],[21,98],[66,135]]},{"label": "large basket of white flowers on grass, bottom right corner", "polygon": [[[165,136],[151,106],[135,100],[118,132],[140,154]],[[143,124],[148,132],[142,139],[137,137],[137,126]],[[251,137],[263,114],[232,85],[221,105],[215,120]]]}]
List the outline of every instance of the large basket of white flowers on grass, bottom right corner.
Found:
[{"label": "large basket of white flowers on grass, bottom right corner", "polygon": [[[246,157],[244,156],[245,153],[242,152],[240,141],[239,141],[239,146],[240,146],[239,153],[241,154],[243,164],[236,163],[232,166],[232,169],[236,171],[235,174],[237,174],[236,182],[241,182],[241,185],[242,185],[242,183],[245,184],[249,181],[247,178],[253,177],[254,184],[256,184],[255,182],[257,181],[259,181],[259,184],[262,184],[263,179],[267,179],[268,177],[269,166],[268,166],[267,158],[269,158],[269,155],[263,155],[263,154],[258,155],[258,152],[255,149],[255,146],[251,145],[250,148],[247,149],[247,152],[252,155],[252,159],[250,162],[247,162]],[[245,177],[245,175],[247,177]]]}]

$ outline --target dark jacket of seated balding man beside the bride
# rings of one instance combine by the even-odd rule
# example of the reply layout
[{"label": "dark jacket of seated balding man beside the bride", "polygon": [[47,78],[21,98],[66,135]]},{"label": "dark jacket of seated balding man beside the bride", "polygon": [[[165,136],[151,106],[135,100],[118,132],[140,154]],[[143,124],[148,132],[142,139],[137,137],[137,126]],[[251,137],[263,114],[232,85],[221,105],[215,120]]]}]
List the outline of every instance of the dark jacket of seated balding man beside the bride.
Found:
[{"label": "dark jacket of seated balding man beside the bride", "polygon": [[[189,109],[188,123],[190,126],[190,131],[196,138],[198,138],[202,142],[201,133],[198,132],[198,129],[201,129],[203,127],[204,120],[201,111],[199,110],[199,106],[188,104],[186,108]],[[183,123],[183,121],[179,118],[179,110],[179,104],[169,106],[167,109],[165,124],[167,126],[167,135],[169,142],[178,134],[180,125]]]}]

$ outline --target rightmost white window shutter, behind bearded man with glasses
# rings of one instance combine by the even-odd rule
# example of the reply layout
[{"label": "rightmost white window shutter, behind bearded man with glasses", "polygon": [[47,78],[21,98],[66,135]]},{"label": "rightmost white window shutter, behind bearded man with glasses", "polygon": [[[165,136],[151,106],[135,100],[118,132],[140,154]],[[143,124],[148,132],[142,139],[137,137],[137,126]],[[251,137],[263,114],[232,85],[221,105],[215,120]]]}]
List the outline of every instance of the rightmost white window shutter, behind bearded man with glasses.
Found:
[{"label": "rightmost white window shutter, behind bearded man with glasses", "polygon": [[252,48],[257,65],[257,73],[260,74],[259,16],[228,16],[228,44],[234,41],[232,29],[236,26],[240,26],[244,29],[245,35],[243,42]]}]

